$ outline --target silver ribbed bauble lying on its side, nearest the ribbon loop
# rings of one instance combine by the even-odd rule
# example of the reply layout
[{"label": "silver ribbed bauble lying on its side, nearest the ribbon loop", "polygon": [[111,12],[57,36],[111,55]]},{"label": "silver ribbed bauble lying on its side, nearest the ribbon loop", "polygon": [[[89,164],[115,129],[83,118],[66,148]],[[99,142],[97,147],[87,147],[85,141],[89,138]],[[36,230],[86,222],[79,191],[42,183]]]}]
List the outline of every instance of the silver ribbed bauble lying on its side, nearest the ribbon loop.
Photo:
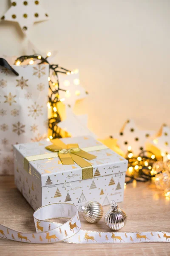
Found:
[{"label": "silver ribbed bauble lying on its side, nearest the ribbon loop", "polygon": [[103,207],[96,201],[88,201],[85,205],[79,207],[83,218],[89,223],[98,222],[103,216]]}]

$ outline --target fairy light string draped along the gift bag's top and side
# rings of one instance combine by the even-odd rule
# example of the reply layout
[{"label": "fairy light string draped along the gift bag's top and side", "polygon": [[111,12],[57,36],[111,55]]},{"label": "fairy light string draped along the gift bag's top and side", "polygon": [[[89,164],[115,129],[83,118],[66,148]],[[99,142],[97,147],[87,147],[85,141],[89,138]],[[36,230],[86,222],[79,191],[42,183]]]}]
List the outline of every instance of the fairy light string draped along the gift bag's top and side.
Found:
[{"label": "fairy light string draped along the gift bag's top and side", "polygon": [[69,93],[68,90],[64,90],[60,88],[59,85],[59,79],[58,79],[58,73],[63,73],[66,75],[73,74],[74,71],[67,70],[63,67],[60,67],[57,64],[50,64],[48,62],[48,57],[51,56],[51,52],[48,52],[46,57],[44,58],[42,55],[34,54],[34,55],[23,55],[20,56],[15,60],[15,63],[17,66],[19,66],[24,61],[29,60],[29,64],[33,65],[35,61],[39,60],[40,62],[38,65],[46,63],[49,64],[49,89],[50,93],[48,94],[48,110],[51,111],[51,117],[48,118],[48,128],[51,130],[52,135],[49,136],[47,140],[55,139],[55,138],[61,138],[61,129],[57,126],[59,122],[61,122],[61,117],[59,115],[59,112],[57,111],[57,105],[59,102],[63,102],[65,99],[60,99],[59,97],[59,91],[64,91],[66,93]]}]

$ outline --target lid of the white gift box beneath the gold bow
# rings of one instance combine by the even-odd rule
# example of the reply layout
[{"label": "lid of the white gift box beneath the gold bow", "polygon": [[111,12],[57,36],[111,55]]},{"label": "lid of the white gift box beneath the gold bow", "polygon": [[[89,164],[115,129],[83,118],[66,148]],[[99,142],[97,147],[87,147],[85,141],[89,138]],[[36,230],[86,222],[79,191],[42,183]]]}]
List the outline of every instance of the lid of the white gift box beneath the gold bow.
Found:
[{"label": "lid of the white gift box beneath the gold bow", "polygon": [[[71,137],[58,139],[68,144],[78,144],[79,148],[86,150],[88,153],[96,156],[93,160],[87,160],[91,164],[89,171],[80,167],[77,163],[70,165],[62,165],[61,160],[58,157],[58,153],[55,157],[49,157],[52,152],[46,149],[46,146],[51,145],[51,142],[42,140],[34,143],[24,143],[14,145],[14,157],[17,161],[17,165],[21,165],[24,169],[25,158],[30,160],[28,168],[25,171],[30,175],[33,175],[36,179],[41,181],[41,186],[54,186],[61,183],[73,182],[82,179],[88,179],[93,177],[101,177],[106,175],[117,174],[123,175],[123,172],[127,170],[127,160],[119,156],[105,145],[95,140],[93,137]],[[56,140],[55,140],[56,141]],[[45,155],[45,159],[31,160],[34,156]],[[33,158],[32,158],[33,156]],[[29,158],[31,157],[31,158]],[[49,158],[48,158],[49,157]],[[83,171],[85,177],[83,177]],[[86,175],[88,174],[88,175]]]}]

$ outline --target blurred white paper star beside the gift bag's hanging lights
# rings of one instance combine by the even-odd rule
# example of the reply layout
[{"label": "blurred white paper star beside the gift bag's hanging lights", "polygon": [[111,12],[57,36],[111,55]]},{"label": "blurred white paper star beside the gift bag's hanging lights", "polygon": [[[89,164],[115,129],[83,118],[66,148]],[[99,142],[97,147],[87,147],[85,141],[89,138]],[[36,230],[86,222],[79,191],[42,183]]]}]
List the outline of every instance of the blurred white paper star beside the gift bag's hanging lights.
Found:
[{"label": "blurred white paper star beside the gift bag's hanging lights", "polygon": [[60,91],[60,98],[64,98],[63,102],[65,105],[69,105],[71,108],[74,107],[75,103],[79,99],[83,99],[87,96],[87,92],[83,87],[79,85],[79,71],[75,70],[68,75],[58,74],[59,87],[61,89],[67,90],[66,92]]}]

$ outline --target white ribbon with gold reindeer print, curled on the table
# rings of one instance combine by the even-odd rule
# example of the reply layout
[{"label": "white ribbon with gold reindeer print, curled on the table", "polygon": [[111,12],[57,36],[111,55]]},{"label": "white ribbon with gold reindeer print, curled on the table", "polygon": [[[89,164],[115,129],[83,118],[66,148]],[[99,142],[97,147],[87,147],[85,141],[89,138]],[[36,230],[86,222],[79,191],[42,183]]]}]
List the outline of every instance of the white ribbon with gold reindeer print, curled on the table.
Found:
[{"label": "white ribbon with gold reindeer print, curled on the table", "polygon": [[[49,221],[69,218],[64,224]],[[96,232],[81,230],[79,214],[74,204],[58,203],[40,207],[34,212],[37,233],[22,233],[0,225],[0,237],[14,241],[48,244],[67,242],[74,244],[170,242],[170,233],[156,232]]]}]

